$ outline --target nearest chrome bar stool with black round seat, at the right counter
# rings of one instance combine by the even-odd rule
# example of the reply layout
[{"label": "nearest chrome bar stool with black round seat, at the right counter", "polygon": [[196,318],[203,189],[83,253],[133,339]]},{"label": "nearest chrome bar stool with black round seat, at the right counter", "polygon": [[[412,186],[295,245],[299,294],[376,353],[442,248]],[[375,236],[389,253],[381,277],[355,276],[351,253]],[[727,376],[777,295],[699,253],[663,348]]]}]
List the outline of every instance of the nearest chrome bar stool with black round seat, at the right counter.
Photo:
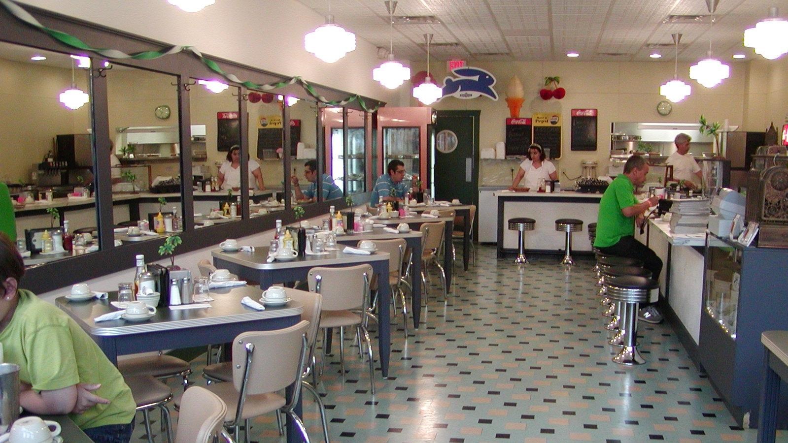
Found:
[{"label": "nearest chrome bar stool with black round seat, at the right counter", "polygon": [[[621,309],[621,329],[617,337],[623,341],[621,351],[613,357],[613,362],[633,366],[644,364],[645,359],[637,353],[635,340],[637,338],[637,308],[649,300],[649,291],[660,286],[660,283],[636,275],[623,275],[611,277],[607,281],[608,297],[618,301]],[[612,340],[611,340],[612,341]]]}]

